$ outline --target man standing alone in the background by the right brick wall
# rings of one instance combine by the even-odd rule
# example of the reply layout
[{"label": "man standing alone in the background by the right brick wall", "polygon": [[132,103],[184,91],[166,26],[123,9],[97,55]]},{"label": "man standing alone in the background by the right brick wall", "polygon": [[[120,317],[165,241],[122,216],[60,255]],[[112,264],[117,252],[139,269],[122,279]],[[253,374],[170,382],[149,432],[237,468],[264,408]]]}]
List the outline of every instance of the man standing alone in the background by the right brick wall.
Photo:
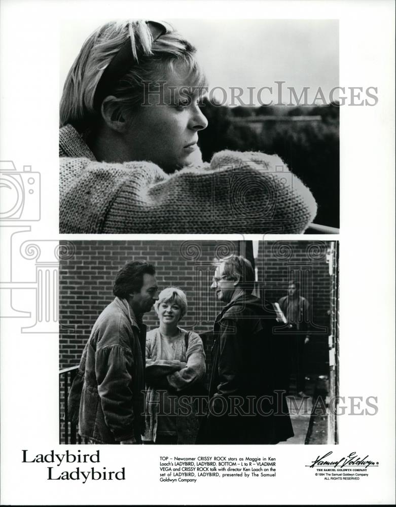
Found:
[{"label": "man standing alone in the background by the right brick wall", "polygon": [[309,342],[310,311],[308,301],[300,296],[299,282],[292,281],[289,284],[287,296],[280,298],[278,304],[289,328],[296,332],[289,338],[289,363],[290,368],[295,367],[296,391],[300,397],[308,397],[305,393],[304,350]]}]

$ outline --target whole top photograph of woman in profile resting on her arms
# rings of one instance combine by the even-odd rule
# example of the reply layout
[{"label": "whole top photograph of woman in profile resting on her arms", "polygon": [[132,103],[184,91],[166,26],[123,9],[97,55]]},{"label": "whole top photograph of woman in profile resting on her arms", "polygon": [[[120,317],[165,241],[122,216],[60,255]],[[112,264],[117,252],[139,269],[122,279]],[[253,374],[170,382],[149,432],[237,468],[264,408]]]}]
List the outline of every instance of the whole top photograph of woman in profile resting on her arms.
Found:
[{"label": "whole top photograph of woman in profile resting on her arms", "polygon": [[60,233],[338,234],[338,20],[60,35]]}]

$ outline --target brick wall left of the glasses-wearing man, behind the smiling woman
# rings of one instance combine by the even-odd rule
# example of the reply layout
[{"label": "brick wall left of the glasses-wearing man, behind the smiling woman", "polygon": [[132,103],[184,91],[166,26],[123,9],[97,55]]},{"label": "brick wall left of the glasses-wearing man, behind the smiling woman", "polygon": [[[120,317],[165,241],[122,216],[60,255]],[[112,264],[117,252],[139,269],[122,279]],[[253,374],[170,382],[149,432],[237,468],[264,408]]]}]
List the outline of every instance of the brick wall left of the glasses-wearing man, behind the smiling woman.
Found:
[{"label": "brick wall left of the glasses-wearing man, behind the smiling woman", "polygon": [[[156,267],[159,288],[181,287],[189,303],[181,326],[210,331],[221,306],[209,290],[213,261],[239,253],[235,241],[73,241],[75,253],[60,261],[59,366],[76,366],[92,325],[113,301],[113,283],[128,261],[147,260]],[[68,257],[68,256],[64,256]],[[148,329],[158,327],[154,310],[145,315]]]}]

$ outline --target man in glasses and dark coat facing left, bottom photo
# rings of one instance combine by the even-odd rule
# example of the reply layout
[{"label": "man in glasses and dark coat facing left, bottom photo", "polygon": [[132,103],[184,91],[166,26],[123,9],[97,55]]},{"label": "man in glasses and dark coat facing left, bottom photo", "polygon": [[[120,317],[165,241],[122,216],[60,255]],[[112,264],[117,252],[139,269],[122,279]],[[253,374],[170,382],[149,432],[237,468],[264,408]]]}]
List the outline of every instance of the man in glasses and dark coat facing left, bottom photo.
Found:
[{"label": "man in glasses and dark coat facing left, bottom photo", "polygon": [[251,294],[254,271],[242,256],[222,259],[211,289],[225,304],[214,322],[207,419],[199,443],[276,444],[293,437],[284,393],[276,313]]}]

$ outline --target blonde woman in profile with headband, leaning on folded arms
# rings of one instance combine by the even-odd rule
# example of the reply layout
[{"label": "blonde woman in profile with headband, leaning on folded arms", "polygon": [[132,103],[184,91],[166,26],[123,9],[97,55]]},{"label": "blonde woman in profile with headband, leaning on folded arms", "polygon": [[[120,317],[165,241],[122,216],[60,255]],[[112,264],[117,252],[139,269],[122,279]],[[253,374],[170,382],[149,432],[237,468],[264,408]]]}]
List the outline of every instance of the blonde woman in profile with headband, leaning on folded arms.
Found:
[{"label": "blonde woman in profile with headband, leaning on folded arms", "polygon": [[60,103],[60,232],[301,233],[316,214],[277,156],[203,164],[206,86],[169,25],[110,22],[84,43]]}]

